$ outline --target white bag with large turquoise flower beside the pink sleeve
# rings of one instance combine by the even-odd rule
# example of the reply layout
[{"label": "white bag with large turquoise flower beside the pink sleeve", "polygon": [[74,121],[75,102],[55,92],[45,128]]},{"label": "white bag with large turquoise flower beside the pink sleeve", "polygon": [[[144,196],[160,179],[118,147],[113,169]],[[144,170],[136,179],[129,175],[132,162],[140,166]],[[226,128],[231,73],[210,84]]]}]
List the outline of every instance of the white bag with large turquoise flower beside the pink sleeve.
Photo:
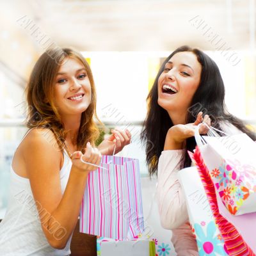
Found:
[{"label": "white bag with large turquoise flower beside the pink sleeve", "polygon": [[184,168],[178,175],[199,255],[228,255],[196,167]]}]

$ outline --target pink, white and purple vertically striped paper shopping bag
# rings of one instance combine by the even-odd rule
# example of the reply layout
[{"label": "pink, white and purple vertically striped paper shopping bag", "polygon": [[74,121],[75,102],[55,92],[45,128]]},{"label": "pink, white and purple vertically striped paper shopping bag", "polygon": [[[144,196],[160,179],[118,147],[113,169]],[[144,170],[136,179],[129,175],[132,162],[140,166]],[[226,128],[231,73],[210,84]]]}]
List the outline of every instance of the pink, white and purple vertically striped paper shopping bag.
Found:
[{"label": "pink, white and purple vertically striped paper shopping bag", "polygon": [[144,229],[138,159],[102,156],[102,168],[88,175],[80,211],[80,232],[117,240]]}]

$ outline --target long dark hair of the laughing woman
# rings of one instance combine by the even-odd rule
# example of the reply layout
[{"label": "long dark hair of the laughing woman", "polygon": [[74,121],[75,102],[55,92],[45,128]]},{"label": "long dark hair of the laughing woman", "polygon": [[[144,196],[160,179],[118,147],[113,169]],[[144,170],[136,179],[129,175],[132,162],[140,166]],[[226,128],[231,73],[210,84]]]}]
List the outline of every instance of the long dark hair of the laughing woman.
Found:
[{"label": "long dark hair of the laughing woman", "polygon": [[[146,145],[147,164],[150,175],[157,174],[157,164],[161,152],[164,148],[164,141],[168,129],[173,126],[172,120],[167,111],[157,103],[158,78],[164,70],[164,65],[177,52],[193,52],[198,62],[202,65],[200,84],[193,95],[190,107],[186,115],[186,124],[193,123],[197,114],[202,111],[203,115],[209,115],[211,125],[221,130],[220,122],[228,122],[240,131],[248,134],[250,138],[256,140],[255,134],[244,125],[243,121],[236,116],[228,113],[225,106],[225,87],[221,78],[220,70],[216,63],[204,52],[198,49],[192,49],[189,46],[177,48],[170,56],[164,60],[152,89],[148,93],[147,103],[148,112],[141,132],[141,140]],[[191,137],[186,140],[186,147],[180,161],[180,168],[191,166],[191,159],[188,156],[188,150],[192,151],[196,147],[195,138]]]}]

